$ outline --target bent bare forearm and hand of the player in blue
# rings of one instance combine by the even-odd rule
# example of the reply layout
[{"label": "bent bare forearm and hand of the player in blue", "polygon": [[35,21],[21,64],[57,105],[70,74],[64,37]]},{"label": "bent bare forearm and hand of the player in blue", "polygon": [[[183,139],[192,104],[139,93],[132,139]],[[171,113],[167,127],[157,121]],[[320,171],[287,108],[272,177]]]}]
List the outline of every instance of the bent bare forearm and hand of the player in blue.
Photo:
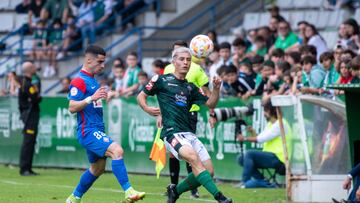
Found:
[{"label": "bent bare forearm and hand of the player in blue", "polygon": [[100,87],[98,90],[96,90],[96,92],[92,96],[86,97],[81,101],[70,100],[69,111],[70,113],[79,112],[93,101],[97,101],[98,99],[106,99],[106,98],[107,98],[106,87]]}]

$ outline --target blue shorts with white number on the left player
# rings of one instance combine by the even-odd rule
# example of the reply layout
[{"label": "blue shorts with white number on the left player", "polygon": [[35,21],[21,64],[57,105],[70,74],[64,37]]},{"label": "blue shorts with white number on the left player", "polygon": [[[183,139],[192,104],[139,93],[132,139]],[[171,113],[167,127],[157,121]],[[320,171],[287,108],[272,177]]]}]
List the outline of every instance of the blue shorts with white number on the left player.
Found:
[{"label": "blue shorts with white number on the left player", "polygon": [[78,133],[78,141],[86,149],[90,163],[105,159],[105,152],[113,142],[108,135],[98,129],[88,129],[84,136]]}]

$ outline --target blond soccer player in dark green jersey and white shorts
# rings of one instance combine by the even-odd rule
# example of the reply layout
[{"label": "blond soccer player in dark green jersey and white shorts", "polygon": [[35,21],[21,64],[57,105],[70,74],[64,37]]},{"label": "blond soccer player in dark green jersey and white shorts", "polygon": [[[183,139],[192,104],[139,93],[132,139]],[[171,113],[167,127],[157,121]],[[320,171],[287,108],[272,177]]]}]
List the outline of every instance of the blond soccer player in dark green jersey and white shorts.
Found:
[{"label": "blond soccer player in dark green jersey and white shorts", "polygon": [[[205,146],[191,132],[190,108],[192,104],[215,108],[219,100],[221,80],[213,78],[214,89],[210,97],[205,96],[194,84],[185,79],[190,69],[191,53],[188,48],[180,47],[173,51],[172,63],[175,66],[173,74],[155,75],[146,88],[138,95],[141,108],[150,115],[158,116],[161,112],[163,129],[161,138],[166,149],[177,159],[183,159],[191,165],[190,173],[178,185],[170,184],[168,203],[174,203],[179,196],[200,185],[204,186],[220,203],[231,203],[216,187],[212,175],[214,173],[210,155]],[[148,96],[157,96],[159,109],[146,103]]]}]

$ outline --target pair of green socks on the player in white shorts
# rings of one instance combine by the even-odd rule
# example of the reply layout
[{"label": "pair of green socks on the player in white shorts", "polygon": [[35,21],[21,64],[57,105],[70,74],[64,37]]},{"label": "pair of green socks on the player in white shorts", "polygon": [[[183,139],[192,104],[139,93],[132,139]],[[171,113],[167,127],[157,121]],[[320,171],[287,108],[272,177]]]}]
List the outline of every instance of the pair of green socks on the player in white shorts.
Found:
[{"label": "pair of green socks on the player in white shorts", "polygon": [[180,195],[200,185],[204,186],[214,197],[220,192],[207,170],[201,172],[197,177],[195,177],[193,173],[189,173],[189,175],[176,186],[176,192]]}]

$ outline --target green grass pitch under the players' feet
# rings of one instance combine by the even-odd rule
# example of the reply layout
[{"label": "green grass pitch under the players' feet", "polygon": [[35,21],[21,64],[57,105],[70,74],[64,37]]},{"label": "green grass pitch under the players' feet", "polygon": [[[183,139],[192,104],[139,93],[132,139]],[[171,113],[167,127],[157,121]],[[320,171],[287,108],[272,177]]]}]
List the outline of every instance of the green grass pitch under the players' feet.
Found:
[{"label": "green grass pitch under the players' feet", "polygon": [[[82,173],[81,170],[61,169],[36,169],[36,172],[39,172],[40,176],[21,177],[17,167],[0,165],[0,202],[63,203],[73,191]],[[157,180],[155,176],[130,174],[129,179],[135,189],[147,193],[145,199],[139,201],[140,203],[166,202],[163,193],[169,183],[169,177],[161,177]],[[225,195],[233,198],[235,203],[285,202],[284,189],[254,190],[234,188],[228,183],[217,185]],[[204,188],[200,188],[201,198],[199,200],[190,199],[189,195],[189,193],[183,194],[177,202],[215,202]],[[120,203],[123,198],[124,193],[115,176],[112,173],[106,173],[85,194],[83,202]]]}]

